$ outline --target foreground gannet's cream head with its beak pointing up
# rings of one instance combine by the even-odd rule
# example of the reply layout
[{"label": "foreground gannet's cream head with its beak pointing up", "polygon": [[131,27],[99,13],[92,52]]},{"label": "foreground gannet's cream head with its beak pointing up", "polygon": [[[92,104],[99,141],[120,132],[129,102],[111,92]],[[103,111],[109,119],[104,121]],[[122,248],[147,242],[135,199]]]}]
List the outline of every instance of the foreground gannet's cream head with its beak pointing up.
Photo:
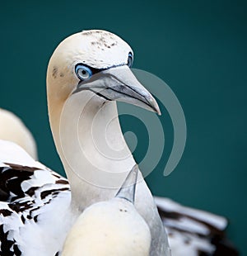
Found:
[{"label": "foreground gannet's cream head with its beak pointing up", "polygon": [[137,166],[128,174],[117,195],[86,208],[72,226],[62,256],[148,256],[151,233],[133,206]]}]

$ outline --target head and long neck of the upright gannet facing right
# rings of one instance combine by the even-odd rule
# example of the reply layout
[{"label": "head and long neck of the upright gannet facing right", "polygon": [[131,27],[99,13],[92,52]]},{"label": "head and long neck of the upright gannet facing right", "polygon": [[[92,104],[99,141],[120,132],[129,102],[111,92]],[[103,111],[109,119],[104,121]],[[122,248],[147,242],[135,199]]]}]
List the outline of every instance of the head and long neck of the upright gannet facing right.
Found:
[{"label": "head and long neck of the upright gannet facing right", "polygon": [[[116,101],[160,113],[130,70],[132,64],[131,47],[100,30],[68,36],[49,60],[49,121],[72,190],[72,216],[113,198],[136,164],[123,139]],[[156,204],[138,175],[135,206],[151,230],[151,256],[170,255]]]}]

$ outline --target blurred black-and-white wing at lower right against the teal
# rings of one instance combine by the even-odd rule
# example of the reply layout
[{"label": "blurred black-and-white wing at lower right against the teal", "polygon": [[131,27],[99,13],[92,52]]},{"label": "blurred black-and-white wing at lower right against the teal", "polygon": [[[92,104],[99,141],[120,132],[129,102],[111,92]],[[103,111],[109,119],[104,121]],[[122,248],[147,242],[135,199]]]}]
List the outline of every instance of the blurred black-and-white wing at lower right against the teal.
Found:
[{"label": "blurred black-and-white wing at lower right against the teal", "polygon": [[165,197],[155,197],[173,256],[238,255],[226,239],[227,220]]}]

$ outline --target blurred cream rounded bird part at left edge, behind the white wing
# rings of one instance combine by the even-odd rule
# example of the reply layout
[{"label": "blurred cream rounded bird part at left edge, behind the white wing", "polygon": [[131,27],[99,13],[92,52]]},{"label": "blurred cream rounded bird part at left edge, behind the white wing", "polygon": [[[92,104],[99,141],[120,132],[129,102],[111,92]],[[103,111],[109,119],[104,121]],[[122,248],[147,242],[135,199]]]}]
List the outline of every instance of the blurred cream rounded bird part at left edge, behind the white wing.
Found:
[{"label": "blurred cream rounded bird part at left edge, behind the white wing", "polygon": [[0,108],[0,140],[15,142],[33,159],[37,159],[37,147],[30,130],[18,116],[2,108]]}]

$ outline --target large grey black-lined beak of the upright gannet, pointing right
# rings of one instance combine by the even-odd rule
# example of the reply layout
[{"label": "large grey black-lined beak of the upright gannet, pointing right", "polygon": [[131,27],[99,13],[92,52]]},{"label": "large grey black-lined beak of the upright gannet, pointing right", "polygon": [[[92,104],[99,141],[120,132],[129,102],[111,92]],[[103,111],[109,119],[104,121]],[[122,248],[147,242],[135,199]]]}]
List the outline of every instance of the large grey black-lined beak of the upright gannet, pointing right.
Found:
[{"label": "large grey black-lined beak of the upright gannet, pointing right", "polygon": [[73,93],[83,90],[95,92],[106,100],[127,102],[161,115],[155,98],[138,82],[127,65],[94,74],[90,80],[79,83]]}]

